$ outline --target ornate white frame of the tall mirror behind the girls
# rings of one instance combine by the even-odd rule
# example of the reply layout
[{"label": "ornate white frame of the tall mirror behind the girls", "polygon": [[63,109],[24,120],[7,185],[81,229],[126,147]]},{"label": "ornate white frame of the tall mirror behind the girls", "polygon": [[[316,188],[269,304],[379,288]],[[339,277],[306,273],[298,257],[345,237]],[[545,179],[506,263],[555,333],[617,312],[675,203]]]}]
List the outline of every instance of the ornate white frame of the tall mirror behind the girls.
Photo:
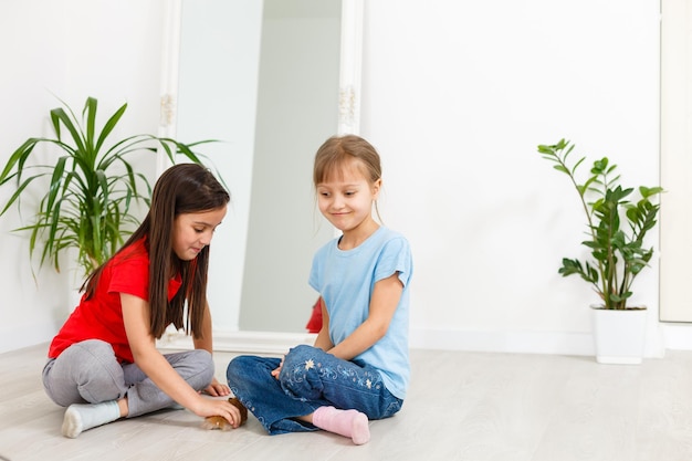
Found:
[{"label": "ornate white frame of the tall mirror behind the girls", "polygon": [[[364,0],[342,0],[338,126],[336,127],[338,134],[359,133],[363,9]],[[168,2],[165,18],[159,136],[176,137],[177,135],[181,20],[182,0],[171,0]],[[168,166],[165,156],[159,155],[157,172],[160,174]],[[214,331],[213,336],[217,350],[277,354],[296,344],[312,344],[314,340],[314,335],[308,333],[261,331]],[[179,332],[171,331],[158,342],[158,345],[166,348],[190,348],[191,340]]]}]

